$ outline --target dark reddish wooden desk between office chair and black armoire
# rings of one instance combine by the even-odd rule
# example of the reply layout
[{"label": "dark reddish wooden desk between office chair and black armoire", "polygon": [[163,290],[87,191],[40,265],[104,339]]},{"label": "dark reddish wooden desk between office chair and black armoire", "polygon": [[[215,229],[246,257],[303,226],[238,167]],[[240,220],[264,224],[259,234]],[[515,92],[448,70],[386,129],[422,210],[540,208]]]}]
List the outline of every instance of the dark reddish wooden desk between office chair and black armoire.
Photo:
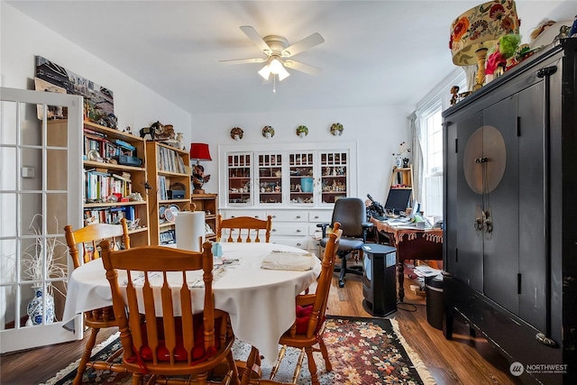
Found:
[{"label": "dark reddish wooden desk between office chair and black armoire", "polygon": [[397,248],[397,278],[398,298],[405,298],[405,281],[403,262],[407,260],[443,260],[443,230],[417,228],[399,228],[389,225],[386,221],[371,218],[377,232],[389,240],[389,244]]}]

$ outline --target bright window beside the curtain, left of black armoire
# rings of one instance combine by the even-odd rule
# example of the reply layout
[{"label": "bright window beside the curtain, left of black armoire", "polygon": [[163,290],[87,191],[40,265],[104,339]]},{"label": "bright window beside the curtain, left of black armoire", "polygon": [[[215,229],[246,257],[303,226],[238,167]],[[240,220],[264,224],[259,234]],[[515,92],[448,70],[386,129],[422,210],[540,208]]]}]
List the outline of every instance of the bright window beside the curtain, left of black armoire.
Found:
[{"label": "bright window beside the curtain, left of black armoire", "polygon": [[441,102],[422,116],[424,209],[427,216],[443,216],[443,117]]}]

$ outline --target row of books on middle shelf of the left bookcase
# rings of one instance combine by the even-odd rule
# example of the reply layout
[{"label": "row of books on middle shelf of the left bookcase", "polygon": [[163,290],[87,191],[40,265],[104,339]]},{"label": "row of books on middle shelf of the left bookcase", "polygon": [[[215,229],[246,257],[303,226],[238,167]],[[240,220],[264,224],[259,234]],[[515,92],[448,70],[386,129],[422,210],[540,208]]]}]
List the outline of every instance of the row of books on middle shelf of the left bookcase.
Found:
[{"label": "row of books on middle shelf of the left bookcase", "polygon": [[133,193],[131,174],[105,172],[98,169],[84,170],[84,199],[85,202],[100,199],[107,201],[115,196],[116,200],[128,197]]}]

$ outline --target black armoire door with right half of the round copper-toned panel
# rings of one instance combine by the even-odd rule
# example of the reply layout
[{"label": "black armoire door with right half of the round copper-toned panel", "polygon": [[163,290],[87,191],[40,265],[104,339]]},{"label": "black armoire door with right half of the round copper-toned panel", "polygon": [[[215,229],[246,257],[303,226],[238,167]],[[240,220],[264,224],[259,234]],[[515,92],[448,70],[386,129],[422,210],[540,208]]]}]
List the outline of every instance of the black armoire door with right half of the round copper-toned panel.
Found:
[{"label": "black armoire door with right half of the round copper-toned panel", "polygon": [[517,96],[483,110],[483,293],[518,313],[519,161],[517,158]]}]

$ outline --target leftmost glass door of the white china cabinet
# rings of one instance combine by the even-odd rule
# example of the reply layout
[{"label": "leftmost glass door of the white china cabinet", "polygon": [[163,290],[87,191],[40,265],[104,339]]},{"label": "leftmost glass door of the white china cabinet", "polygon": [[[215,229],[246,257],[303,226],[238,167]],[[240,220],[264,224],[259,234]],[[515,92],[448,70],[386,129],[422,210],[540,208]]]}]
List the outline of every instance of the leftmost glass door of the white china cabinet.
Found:
[{"label": "leftmost glass door of the white china cabinet", "polygon": [[251,205],[251,153],[228,155],[228,203]]}]

